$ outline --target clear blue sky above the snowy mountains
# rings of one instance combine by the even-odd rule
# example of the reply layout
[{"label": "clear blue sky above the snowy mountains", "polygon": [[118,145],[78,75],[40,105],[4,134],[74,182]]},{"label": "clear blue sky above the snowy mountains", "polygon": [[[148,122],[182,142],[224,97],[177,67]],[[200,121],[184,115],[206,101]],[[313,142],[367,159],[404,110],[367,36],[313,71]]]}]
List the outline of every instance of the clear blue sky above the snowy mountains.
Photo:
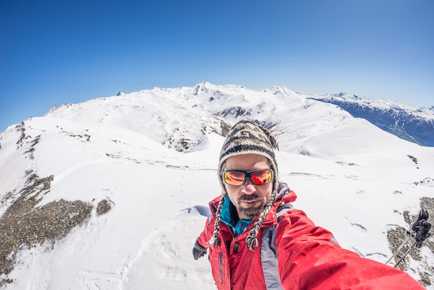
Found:
[{"label": "clear blue sky above the snowy mountains", "polygon": [[434,105],[433,0],[0,1],[0,132],[153,87],[283,85]]}]

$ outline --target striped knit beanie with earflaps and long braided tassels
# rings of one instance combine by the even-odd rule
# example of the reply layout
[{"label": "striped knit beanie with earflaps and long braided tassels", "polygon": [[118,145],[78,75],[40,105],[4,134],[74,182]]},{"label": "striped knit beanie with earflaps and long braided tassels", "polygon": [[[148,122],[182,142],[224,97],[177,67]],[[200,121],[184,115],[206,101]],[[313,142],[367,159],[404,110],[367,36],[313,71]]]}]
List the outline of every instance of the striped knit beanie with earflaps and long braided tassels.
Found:
[{"label": "striped knit beanie with earflaps and long braided tassels", "polygon": [[220,214],[222,211],[223,203],[227,197],[227,191],[225,185],[223,184],[223,167],[225,166],[225,161],[234,155],[241,154],[257,154],[266,157],[270,162],[270,168],[274,171],[274,180],[272,187],[272,194],[270,200],[263,207],[262,212],[259,214],[259,218],[254,223],[252,230],[248,237],[245,239],[246,244],[250,250],[259,245],[259,240],[257,234],[263,219],[270,211],[272,204],[275,202],[277,196],[277,188],[279,187],[279,178],[277,174],[277,162],[275,158],[274,149],[279,149],[275,137],[263,126],[260,126],[251,121],[239,121],[236,123],[225,139],[223,143],[222,150],[220,151],[220,160],[218,162],[218,180],[220,181],[220,186],[223,189],[222,196],[220,198],[220,203],[218,203],[216,211],[216,222],[214,224],[214,232],[209,240],[211,246],[217,246],[220,241],[218,239],[218,232],[220,230]]}]

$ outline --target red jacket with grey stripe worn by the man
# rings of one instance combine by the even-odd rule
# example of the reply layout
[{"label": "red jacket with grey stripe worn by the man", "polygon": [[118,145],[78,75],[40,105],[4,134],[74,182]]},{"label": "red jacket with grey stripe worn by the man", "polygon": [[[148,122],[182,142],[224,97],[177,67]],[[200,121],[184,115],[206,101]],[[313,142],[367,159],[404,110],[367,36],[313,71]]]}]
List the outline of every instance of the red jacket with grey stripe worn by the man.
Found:
[{"label": "red jacket with grey stripe worn by the man", "polygon": [[220,223],[220,245],[209,248],[220,197],[209,203],[211,216],[198,243],[209,248],[209,262],[218,289],[425,289],[407,273],[341,248],[333,234],[301,210],[285,212],[276,228],[277,210],[295,201],[284,187],[258,233],[254,251],[245,245],[252,223],[234,237]]}]

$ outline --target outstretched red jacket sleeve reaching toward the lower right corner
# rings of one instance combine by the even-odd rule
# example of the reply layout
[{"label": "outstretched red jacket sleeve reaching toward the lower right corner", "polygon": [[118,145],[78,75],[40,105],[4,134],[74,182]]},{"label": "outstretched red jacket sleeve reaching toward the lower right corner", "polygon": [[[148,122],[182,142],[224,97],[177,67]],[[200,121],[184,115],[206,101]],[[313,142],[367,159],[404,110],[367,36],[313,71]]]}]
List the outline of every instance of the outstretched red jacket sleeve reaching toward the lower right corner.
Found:
[{"label": "outstretched red jacket sleeve reaching toward the lower right corner", "polygon": [[360,257],[333,240],[304,212],[284,214],[276,230],[284,289],[425,289],[407,273]]}]

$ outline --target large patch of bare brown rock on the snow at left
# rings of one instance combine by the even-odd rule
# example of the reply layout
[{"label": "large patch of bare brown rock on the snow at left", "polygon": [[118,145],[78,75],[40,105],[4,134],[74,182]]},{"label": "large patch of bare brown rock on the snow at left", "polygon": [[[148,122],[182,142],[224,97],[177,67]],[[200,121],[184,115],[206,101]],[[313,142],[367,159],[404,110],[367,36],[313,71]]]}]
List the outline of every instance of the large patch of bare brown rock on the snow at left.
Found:
[{"label": "large patch of bare brown rock on the snow at left", "polygon": [[31,248],[45,241],[54,243],[76,225],[90,218],[92,205],[83,201],[53,201],[37,207],[40,197],[49,191],[53,176],[28,176],[28,186],[0,219],[0,275],[6,275],[0,286],[12,282],[7,275],[14,268],[20,248]]}]

